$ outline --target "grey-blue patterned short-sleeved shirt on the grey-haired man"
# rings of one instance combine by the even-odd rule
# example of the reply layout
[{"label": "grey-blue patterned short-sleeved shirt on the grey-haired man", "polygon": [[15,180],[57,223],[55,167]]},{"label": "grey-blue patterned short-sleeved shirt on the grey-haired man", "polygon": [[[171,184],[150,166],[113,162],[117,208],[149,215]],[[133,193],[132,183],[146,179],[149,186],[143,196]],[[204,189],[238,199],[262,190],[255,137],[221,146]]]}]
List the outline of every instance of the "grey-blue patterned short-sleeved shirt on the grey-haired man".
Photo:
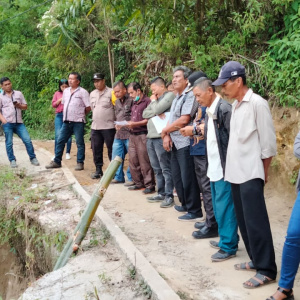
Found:
[{"label": "grey-blue patterned short-sleeved shirt on the grey-haired man", "polygon": [[[177,94],[172,102],[169,124],[172,124],[183,115],[190,115],[191,121],[187,125],[192,125],[192,118],[195,116],[197,109],[198,102],[196,101],[193,91],[189,91],[189,87],[186,87],[183,93],[181,95]],[[171,132],[170,137],[175,144],[176,149],[181,149],[190,145],[190,138],[182,136],[178,130]]]}]

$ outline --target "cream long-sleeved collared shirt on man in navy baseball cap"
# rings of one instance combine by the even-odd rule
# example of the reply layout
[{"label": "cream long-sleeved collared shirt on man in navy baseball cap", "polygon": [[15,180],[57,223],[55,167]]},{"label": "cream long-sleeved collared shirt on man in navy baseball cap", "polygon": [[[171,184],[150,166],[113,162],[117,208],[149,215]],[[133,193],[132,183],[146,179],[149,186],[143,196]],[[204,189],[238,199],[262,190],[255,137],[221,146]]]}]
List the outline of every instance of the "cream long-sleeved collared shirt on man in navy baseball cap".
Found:
[{"label": "cream long-sleeved collared shirt on man in navy baseball cap", "polygon": [[276,135],[268,102],[249,89],[232,104],[225,180],[241,184],[265,180],[262,159],[276,155]]}]

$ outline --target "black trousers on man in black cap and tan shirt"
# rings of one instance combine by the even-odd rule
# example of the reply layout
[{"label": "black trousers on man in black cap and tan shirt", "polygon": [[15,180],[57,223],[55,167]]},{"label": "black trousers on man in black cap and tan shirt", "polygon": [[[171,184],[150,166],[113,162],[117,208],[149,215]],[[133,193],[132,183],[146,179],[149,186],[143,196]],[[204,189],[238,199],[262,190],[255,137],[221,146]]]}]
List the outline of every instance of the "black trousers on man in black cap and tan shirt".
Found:
[{"label": "black trousers on man in black cap and tan shirt", "polygon": [[111,160],[112,155],[112,145],[114,143],[116,129],[101,129],[101,130],[91,130],[91,144],[94,157],[94,164],[96,167],[103,166],[103,146],[104,143],[107,147],[108,158]]}]

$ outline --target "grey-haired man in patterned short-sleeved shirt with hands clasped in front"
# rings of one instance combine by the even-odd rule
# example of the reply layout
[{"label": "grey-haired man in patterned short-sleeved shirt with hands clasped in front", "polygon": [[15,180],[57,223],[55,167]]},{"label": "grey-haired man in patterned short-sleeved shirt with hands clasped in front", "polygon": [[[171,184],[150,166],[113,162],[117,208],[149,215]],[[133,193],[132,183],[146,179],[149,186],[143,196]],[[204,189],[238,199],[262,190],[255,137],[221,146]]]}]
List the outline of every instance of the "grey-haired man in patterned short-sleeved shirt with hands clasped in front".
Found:
[{"label": "grey-haired man in patterned short-sleeved shirt with hands clasped in front", "polygon": [[177,92],[170,112],[168,125],[161,137],[166,151],[171,151],[171,172],[173,183],[181,206],[175,205],[179,212],[186,212],[178,217],[180,221],[202,221],[200,190],[195,174],[193,158],[190,156],[190,138],[182,136],[179,129],[192,125],[198,103],[193,91],[188,91],[188,76],[191,70],[184,66],[173,71],[173,86]]}]

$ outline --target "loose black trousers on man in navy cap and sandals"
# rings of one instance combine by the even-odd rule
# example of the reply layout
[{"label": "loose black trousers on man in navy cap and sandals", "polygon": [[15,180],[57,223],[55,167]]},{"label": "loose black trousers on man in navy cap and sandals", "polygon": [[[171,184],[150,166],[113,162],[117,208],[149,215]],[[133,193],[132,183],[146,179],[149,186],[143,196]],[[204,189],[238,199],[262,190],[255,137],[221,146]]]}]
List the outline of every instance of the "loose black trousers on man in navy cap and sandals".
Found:
[{"label": "loose black trousers on man in navy cap and sandals", "polygon": [[264,198],[264,181],[256,178],[231,184],[238,226],[246,250],[258,273],[276,278],[272,233]]}]

